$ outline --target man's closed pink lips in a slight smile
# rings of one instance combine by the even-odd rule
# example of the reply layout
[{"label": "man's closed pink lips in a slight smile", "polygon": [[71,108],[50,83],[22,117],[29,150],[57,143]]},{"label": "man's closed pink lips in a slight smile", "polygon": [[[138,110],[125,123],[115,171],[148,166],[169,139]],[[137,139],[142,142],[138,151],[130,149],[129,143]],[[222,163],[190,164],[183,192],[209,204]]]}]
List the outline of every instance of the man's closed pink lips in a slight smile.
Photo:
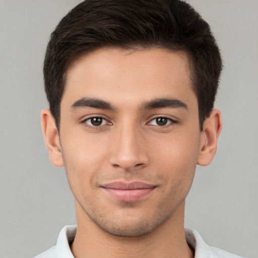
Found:
[{"label": "man's closed pink lips in a slight smile", "polygon": [[150,195],[155,185],[144,182],[122,182],[116,181],[107,183],[102,188],[112,198],[122,202],[136,202]]}]

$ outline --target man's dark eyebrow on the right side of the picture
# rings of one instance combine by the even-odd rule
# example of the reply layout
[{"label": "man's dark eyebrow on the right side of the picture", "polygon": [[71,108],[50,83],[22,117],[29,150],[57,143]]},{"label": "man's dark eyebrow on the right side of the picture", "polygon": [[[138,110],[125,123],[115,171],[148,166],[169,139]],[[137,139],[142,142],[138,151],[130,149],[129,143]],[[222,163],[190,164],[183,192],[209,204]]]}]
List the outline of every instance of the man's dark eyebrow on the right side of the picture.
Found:
[{"label": "man's dark eyebrow on the right side of the picture", "polygon": [[187,105],[179,99],[174,98],[159,98],[154,99],[148,102],[145,102],[142,105],[142,110],[145,109],[154,109],[154,108],[184,108],[188,109]]}]

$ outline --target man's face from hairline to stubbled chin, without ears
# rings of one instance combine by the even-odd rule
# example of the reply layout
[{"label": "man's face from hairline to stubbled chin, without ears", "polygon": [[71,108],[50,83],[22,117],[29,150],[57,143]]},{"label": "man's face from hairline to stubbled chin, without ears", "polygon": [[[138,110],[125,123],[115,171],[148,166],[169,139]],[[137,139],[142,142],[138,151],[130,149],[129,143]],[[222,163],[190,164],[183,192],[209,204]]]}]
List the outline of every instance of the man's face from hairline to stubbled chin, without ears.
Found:
[{"label": "man's face from hairline to stubbled chin, without ears", "polygon": [[81,210],[113,235],[172,220],[200,152],[198,101],[187,55],[100,49],[68,72],[60,146]]}]

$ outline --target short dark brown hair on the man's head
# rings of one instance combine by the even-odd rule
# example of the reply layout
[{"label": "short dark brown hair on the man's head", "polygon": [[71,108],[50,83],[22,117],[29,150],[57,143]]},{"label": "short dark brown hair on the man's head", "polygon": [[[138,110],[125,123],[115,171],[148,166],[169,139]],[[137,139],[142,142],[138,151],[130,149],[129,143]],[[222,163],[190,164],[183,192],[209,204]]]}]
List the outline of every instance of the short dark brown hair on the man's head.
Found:
[{"label": "short dark brown hair on the man's head", "polygon": [[58,130],[68,70],[81,56],[103,47],[185,52],[202,131],[214,106],[222,60],[208,23],[178,0],[87,0],[60,21],[44,61],[45,91]]}]

